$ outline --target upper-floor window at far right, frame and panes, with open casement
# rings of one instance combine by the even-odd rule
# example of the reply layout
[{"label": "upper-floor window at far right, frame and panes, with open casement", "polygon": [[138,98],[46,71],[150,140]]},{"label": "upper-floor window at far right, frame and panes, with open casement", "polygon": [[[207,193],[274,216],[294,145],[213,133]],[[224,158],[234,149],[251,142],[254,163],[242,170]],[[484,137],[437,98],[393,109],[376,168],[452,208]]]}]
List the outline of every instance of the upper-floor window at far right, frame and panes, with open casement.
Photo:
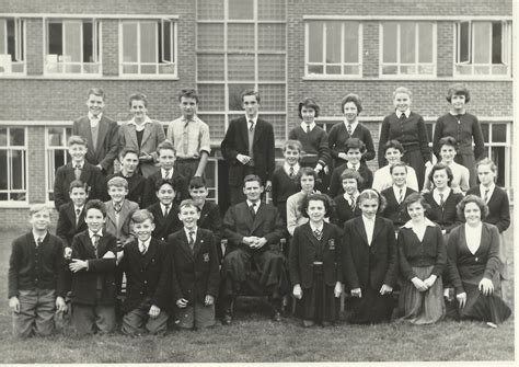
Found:
[{"label": "upper-floor window at far right, frame and panes, with open casement", "polygon": [[509,76],[509,22],[460,22],[455,25],[455,74]]}]

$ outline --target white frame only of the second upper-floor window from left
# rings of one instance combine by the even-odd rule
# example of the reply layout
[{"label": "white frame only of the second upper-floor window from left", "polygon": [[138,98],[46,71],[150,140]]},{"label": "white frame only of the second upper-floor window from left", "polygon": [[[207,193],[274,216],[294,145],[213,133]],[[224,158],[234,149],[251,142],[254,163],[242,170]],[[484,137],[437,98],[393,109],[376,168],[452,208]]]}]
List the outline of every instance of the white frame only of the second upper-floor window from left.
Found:
[{"label": "white frame only of the second upper-floor window from left", "polygon": [[[94,58],[94,62],[84,62],[84,61],[67,61],[65,59],[67,49],[66,49],[66,23],[80,23],[81,24],[81,33],[80,33],[80,43],[81,43],[81,57],[80,59],[83,59],[83,23],[84,22],[92,22],[92,56]],[[51,23],[60,23],[62,27],[62,37],[61,37],[61,44],[62,44],[62,53],[64,55],[54,55],[54,54],[48,54],[48,47],[49,47],[49,24]],[[78,19],[78,18],[50,18],[50,19],[44,19],[44,45],[45,45],[45,51],[44,51],[44,76],[84,76],[84,77],[101,77],[103,73],[103,64],[102,64],[102,22],[100,22],[97,19]],[[56,56],[57,60],[56,61],[50,61],[50,57]],[[61,59],[60,59],[61,57]],[[79,72],[73,72],[70,71],[69,68],[73,66],[79,66],[80,71]],[[96,72],[86,72],[86,68],[90,66],[96,67],[97,71]]]}]

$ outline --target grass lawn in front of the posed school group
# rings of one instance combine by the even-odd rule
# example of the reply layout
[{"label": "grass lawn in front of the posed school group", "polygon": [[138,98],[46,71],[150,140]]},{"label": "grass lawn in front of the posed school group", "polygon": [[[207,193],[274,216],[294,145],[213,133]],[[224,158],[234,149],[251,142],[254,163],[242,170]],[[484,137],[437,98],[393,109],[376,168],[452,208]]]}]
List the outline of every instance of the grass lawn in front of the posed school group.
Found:
[{"label": "grass lawn in front of the posed school group", "polygon": [[[302,329],[295,318],[269,321],[264,301],[247,298],[239,301],[230,326],[218,323],[210,330],[172,331],[163,337],[55,335],[16,341],[11,337],[7,272],[10,243],[20,231],[0,232],[0,291],[4,299],[0,306],[0,363],[514,360],[514,316],[498,329],[454,321],[429,326],[343,322],[327,329]],[[508,233],[511,237],[512,230]]]}]

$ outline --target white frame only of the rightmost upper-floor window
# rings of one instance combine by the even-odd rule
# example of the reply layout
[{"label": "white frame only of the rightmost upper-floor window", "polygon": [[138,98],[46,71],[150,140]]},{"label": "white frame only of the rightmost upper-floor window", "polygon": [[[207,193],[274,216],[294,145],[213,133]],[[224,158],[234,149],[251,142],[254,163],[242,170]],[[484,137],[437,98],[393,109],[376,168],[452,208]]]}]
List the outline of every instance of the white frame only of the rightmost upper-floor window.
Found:
[{"label": "white frame only of the rightmost upper-floor window", "polygon": [[[454,45],[453,45],[453,74],[454,77],[457,78],[476,78],[476,79],[480,79],[480,78],[488,78],[488,79],[496,79],[496,78],[506,78],[506,79],[509,79],[511,78],[511,22],[510,21],[500,21],[501,25],[503,25],[503,33],[501,33],[501,53],[503,53],[503,60],[504,62],[503,64],[492,64],[492,50],[489,53],[489,60],[488,60],[488,64],[474,64],[472,62],[472,59],[473,59],[473,55],[472,55],[472,51],[474,49],[474,43],[476,42],[473,37],[473,26],[474,26],[474,23],[495,23],[496,21],[495,20],[488,20],[488,21],[484,21],[484,20],[477,20],[477,21],[472,21],[472,20],[468,20],[468,21],[460,21],[460,22],[457,22],[454,23],[454,27],[453,27],[453,39],[454,39]],[[460,46],[461,46],[461,35],[460,35],[460,27],[462,24],[469,24],[469,38],[470,38],[470,42],[469,42],[469,60],[466,61],[460,61],[459,58],[461,57],[460,56]],[[488,44],[492,45],[492,26],[491,26],[491,32],[488,33]],[[507,71],[506,73],[493,73],[493,66],[497,66],[497,65],[500,65],[500,66],[505,66]],[[458,71],[458,66],[465,66],[465,67],[470,67],[471,69],[471,72],[470,73],[462,73],[460,71]],[[488,67],[489,69],[489,72],[488,73],[475,73],[474,72],[474,69],[477,68],[477,67]]]}]

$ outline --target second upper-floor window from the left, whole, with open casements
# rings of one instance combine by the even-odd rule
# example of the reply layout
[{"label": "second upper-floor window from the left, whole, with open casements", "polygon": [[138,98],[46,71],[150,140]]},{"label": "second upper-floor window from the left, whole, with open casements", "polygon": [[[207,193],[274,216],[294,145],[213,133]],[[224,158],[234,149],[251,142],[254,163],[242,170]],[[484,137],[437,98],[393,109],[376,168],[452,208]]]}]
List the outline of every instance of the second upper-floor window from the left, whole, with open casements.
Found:
[{"label": "second upper-floor window from the left, whole, with open casements", "polygon": [[45,73],[101,73],[97,21],[48,20],[46,34]]}]

